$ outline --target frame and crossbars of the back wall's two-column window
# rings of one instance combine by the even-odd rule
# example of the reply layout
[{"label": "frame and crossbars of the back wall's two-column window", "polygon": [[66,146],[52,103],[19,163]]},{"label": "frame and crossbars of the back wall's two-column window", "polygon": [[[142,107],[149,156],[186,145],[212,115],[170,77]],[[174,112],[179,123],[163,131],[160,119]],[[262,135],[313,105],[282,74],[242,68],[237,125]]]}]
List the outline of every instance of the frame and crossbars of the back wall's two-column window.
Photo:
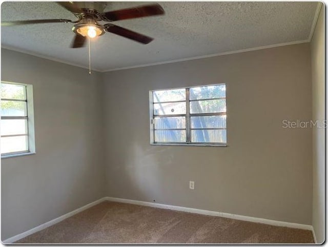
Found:
[{"label": "frame and crossbars of the back wall's two-column window", "polygon": [[[190,100],[189,91],[191,88],[197,87],[208,87],[208,86],[219,86],[225,85],[226,86],[226,97],[220,98],[211,98],[211,99],[226,99],[226,112],[224,113],[190,113],[190,102],[197,101],[197,100]],[[175,90],[175,89],[186,89],[186,114],[166,114],[166,115],[154,115],[154,101],[153,101],[153,92],[161,91],[161,90]],[[205,100],[205,99],[204,99]],[[180,100],[179,100],[180,101]],[[168,101],[168,102],[177,102],[177,101]],[[165,102],[165,103],[168,103]],[[181,100],[181,102],[185,102],[185,100]],[[156,89],[149,91],[149,115],[150,115],[150,144],[151,145],[167,145],[167,146],[210,146],[210,147],[228,147],[228,109],[227,109],[227,83],[220,83],[220,84],[209,84],[209,85],[200,85],[200,86],[192,86],[192,87],[182,87],[182,88],[170,88],[170,89]],[[227,142],[191,142],[191,123],[190,117],[191,116],[214,116],[214,115],[226,115],[226,128],[215,128],[215,129],[225,129],[227,132]],[[178,116],[185,116],[186,117],[186,142],[156,142],[154,138],[154,117],[178,117]]]}]

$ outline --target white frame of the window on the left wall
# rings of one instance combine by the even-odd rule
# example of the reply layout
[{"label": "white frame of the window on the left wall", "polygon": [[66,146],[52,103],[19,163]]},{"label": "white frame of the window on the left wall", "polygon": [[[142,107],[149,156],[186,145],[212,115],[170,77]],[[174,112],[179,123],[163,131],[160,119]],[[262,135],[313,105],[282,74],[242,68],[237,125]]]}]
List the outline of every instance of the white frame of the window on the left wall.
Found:
[{"label": "white frame of the window on the left wall", "polygon": [[[34,138],[34,108],[33,108],[33,86],[24,83],[13,83],[11,81],[1,81],[4,84],[12,84],[24,86],[26,89],[26,100],[15,99],[16,101],[25,101],[27,104],[27,117],[25,116],[1,116],[1,119],[27,119],[27,134],[28,134],[28,150],[20,152],[11,152],[1,154],[1,158],[10,158],[16,156],[24,156],[35,154],[35,138]],[[10,99],[11,100],[11,99]],[[1,138],[1,137],[0,137]]]}]

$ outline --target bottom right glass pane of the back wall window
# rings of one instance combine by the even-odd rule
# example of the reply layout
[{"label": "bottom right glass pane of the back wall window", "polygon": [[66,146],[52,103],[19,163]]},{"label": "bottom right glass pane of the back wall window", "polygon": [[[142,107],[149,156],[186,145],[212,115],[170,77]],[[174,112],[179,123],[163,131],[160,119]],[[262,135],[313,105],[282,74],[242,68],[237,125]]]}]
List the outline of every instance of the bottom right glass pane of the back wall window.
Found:
[{"label": "bottom right glass pane of the back wall window", "polygon": [[227,130],[192,130],[192,142],[227,142]]}]

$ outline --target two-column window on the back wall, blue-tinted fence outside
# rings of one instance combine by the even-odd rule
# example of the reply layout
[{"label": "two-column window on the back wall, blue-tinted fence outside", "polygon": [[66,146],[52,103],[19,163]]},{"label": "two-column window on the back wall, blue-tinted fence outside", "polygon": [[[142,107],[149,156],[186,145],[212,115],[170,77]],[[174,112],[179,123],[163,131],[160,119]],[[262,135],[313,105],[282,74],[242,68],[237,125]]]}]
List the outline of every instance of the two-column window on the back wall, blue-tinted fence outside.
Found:
[{"label": "two-column window on the back wall, blue-tinted fence outside", "polygon": [[152,144],[227,146],[226,84],[150,91]]}]

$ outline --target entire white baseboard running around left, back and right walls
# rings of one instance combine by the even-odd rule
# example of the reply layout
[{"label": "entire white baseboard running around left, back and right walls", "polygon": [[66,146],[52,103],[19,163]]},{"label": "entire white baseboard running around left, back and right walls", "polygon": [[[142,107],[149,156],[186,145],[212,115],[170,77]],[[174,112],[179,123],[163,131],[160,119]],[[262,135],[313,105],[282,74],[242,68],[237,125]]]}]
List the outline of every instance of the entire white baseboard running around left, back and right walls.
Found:
[{"label": "entire white baseboard running around left, back and right walls", "polygon": [[71,217],[81,211],[84,211],[88,208],[91,208],[92,206],[103,202],[103,201],[116,201],[116,202],[124,202],[124,203],[131,203],[131,204],[137,204],[137,205],[144,205],[148,207],[153,208],[159,208],[159,209],[170,209],[170,210],[176,210],[176,211],[183,211],[188,213],[195,213],[195,214],[203,214],[203,215],[210,215],[210,216],[220,216],[224,218],[230,218],[230,219],[238,219],[238,220],[244,220],[244,221],[251,221],[251,222],[257,222],[257,223],[263,223],[263,224],[270,224],[270,225],[277,225],[279,227],[289,227],[289,228],[298,228],[303,230],[310,230],[313,233],[313,238],[315,243],[316,236],[314,233],[314,229],[312,225],[307,224],[298,224],[298,223],[291,223],[291,222],[284,222],[284,221],[277,221],[277,220],[271,220],[271,219],[262,219],[262,218],[255,218],[255,217],[249,217],[249,216],[243,216],[243,215],[237,215],[237,214],[229,214],[229,213],[221,213],[216,211],[209,211],[209,210],[202,210],[202,209],[193,209],[193,208],[186,208],[186,207],[180,207],[180,206],[174,206],[174,205],[166,205],[166,204],[160,204],[160,203],[153,203],[153,202],[147,202],[147,201],[138,201],[138,200],[130,200],[130,199],[124,199],[124,198],[116,198],[116,197],[103,197],[100,198],[94,202],[91,202],[87,205],[84,205],[81,208],[78,208],[76,210],[73,210],[67,214],[64,214],[58,218],[55,218],[53,220],[50,220],[46,223],[40,224],[35,228],[32,228],[24,233],[17,234],[11,238],[5,239],[2,241],[4,244],[13,243],[19,239],[25,238],[28,235],[31,235],[33,233],[36,233],[38,231],[41,231],[47,227],[50,227],[53,224],[56,224],[64,219],[67,219],[68,217]]}]

